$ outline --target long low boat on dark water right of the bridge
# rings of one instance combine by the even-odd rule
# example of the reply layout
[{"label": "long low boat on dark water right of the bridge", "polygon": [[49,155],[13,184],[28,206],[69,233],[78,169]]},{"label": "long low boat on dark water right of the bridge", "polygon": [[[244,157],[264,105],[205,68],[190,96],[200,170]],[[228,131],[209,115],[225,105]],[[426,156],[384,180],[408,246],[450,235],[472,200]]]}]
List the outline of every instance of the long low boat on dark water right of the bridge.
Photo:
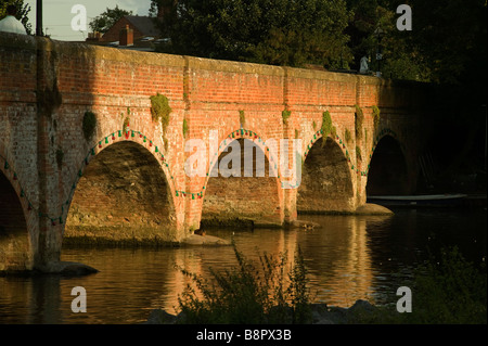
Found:
[{"label": "long low boat on dark water right of the bridge", "polygon": [[368,203],[384,206],[455,206],[463,203],[467,194],[420,194],[368,196]]}]

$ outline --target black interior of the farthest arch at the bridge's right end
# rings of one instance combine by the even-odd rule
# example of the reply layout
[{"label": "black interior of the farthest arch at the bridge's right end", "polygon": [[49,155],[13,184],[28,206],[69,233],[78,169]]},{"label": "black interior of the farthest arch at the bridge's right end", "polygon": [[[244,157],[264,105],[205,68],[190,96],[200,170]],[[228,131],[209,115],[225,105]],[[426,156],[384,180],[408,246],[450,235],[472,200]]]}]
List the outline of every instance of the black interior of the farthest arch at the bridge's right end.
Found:
[{"label": "black interior of the farthest arch at the bridge's right end", "polygon": [[371,158],[367,194],[373,196],[408,193],[407,164],[400,145],[393,137],[383,137]]}]

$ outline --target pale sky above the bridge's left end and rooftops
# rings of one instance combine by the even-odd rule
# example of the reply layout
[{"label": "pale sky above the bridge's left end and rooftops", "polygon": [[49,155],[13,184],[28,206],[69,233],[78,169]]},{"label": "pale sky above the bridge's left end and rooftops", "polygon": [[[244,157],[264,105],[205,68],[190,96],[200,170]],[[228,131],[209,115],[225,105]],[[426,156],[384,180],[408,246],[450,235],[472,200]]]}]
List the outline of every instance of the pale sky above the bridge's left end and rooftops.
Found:
[{"label": "pale sky above the bridge's left end and rooftops", "polygon": [[[24,0],[24,4],[30,5],[29,22],[33,31],[36,30],[36,0]],[[87,31],[77,31],[72,28],[72,20],[77,15],[72,13],[72,8],[81,4],[87,10]],[[136,15],[147,15],[151,0],[43,0],[42,22],[44,33],[54,40],[84,41],[88,37],[90,21],[104,12],[107,8],[117,5]]]}]

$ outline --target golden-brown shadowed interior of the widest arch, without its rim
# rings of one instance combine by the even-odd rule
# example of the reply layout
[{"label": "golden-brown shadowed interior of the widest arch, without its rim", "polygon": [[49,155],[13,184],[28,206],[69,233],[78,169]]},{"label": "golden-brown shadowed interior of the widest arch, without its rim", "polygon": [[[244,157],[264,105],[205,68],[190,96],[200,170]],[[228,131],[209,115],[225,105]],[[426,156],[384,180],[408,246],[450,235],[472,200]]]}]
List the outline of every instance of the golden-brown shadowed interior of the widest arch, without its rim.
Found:
[{"label": "golden-brown shadowed interior of the widest arch, without its rim", "polygon": [[91,159],[79,179],[65,235],[76,229],[143,228],[170,223],[168,185],[157,159],[143,146],[124,141]]}]

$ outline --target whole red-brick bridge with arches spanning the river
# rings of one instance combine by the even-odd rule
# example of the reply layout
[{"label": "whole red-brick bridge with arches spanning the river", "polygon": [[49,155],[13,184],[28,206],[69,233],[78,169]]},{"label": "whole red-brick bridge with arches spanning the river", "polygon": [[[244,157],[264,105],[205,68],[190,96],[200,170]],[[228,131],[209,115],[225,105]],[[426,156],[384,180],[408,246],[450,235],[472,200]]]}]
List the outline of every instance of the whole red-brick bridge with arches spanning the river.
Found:
[{"label": "whole red-brick bridge with arches spanning the river", "polygon": [[[13,34],[0,61],[0,270],[57,261],[68,236],[180,242],[201,221],[283,226],[415,190],[423,85]],[[209,143],[207,175],[185,174],[190,139]],[[301,139],[292,189],[269,150],[280,139]],[[235,141],[265,154],[265,177],[208,175]]]}]

